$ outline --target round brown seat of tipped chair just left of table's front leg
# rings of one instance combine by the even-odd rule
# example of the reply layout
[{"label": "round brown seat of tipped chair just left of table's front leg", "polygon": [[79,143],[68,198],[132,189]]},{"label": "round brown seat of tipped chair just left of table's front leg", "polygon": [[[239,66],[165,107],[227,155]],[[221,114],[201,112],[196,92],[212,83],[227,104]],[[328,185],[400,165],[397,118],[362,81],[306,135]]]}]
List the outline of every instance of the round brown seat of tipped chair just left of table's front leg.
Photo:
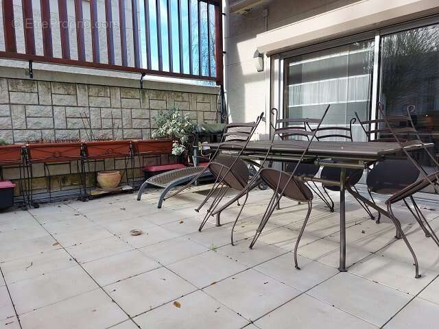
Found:
[{"label": "round brown seat of tipped chair just left of table's front leg", "polygon": [[289,180],[290,173],[272,168],[264,168],[259,174],[261,175],[261,179],[270,186],[272,190],[276,191],[277,188],[278,193],[281,193],[286,186],[283,195],[289,199],[297,202],[309,202],[313,199],[313,193],[304,182],[297,178]]}]

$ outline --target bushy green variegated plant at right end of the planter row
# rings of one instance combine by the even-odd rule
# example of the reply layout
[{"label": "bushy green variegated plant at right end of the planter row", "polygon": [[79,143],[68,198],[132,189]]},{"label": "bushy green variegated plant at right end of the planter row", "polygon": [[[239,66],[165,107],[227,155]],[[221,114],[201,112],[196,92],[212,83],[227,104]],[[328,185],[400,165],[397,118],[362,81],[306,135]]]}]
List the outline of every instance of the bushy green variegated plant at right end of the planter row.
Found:
[{"label": "bushy green variegated plant at right end of the planter row", "polygon": [[174,156],[180,156],[186,151],[189,136],[193,132],[193,123],[188,114],[172,108],[167,112],[159,112],[153,119],[158,128],[152,132],[152,138],[171,139]]}]

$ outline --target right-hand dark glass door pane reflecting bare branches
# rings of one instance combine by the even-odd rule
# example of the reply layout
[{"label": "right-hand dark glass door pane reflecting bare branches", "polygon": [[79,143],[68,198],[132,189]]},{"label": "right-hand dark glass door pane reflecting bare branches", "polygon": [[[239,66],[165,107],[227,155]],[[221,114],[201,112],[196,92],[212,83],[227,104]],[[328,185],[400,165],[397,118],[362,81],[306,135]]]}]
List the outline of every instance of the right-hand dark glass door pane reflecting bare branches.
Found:
[{"label": "right-hand dark glass door pane reflecting bare branches", "polygon": [[[385,113],[410,114],[423,141],[439,156],[439,25],[381,36],[380,100]],[[423,164],[431,163],[423,152]]]}]

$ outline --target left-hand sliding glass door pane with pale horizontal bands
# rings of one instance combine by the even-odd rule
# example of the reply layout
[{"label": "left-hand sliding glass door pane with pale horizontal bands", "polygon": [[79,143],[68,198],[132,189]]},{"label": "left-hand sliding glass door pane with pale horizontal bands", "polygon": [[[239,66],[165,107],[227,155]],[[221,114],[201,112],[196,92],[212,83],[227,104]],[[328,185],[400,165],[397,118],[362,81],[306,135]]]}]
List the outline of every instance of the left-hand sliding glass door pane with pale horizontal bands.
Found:
[{"label": "left-hand sliding glass door pane with pale horizontal bands", "polygon": [[[331,108],[323,125],[348,126],[355,112],[370,115],[374,40],[355,42],[284,60],[283,116],[320,118]],[[353,125],[354,141],[366,136]]]}]

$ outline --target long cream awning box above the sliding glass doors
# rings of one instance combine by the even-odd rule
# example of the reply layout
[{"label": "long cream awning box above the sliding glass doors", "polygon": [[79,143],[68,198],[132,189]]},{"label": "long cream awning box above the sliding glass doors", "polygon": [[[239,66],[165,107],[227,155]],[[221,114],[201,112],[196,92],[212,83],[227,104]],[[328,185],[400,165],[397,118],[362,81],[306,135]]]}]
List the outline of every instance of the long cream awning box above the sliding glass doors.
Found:
[{"label": "long cream awning box above the sliding glass doors", "polygon": [[346,35],[401,16],[439,7],[438,0],[364,0],[257,35],[261,53],[275,53]]}]

